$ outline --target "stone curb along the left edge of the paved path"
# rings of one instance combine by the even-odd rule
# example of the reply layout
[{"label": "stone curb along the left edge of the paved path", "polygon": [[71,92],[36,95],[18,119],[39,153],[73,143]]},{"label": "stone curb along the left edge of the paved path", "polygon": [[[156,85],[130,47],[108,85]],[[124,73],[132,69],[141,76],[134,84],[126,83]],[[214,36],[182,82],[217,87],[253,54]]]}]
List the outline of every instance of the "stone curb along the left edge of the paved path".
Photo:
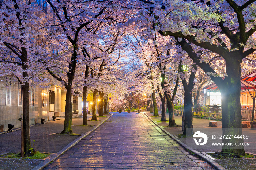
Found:
[{"label": "stone curb along the left edge of the paved path", "polygon": [[[109,116],[111,117],[113,115],[113,113]],[[109,117],[106,119],[108,120]],[[105,121],[106,121],[105,120]],[[95,128],[93,128],[92,130],[86,132],[85,134],[82,134],[80,137],[76,138],[74,141],[72,141],[71,143],[69,143],[67,146],[65,146],[62,150],[60,150],[59,152],[55,153],[55,154],[51,154],[49,155],[49,157],[47,157],[44,162],[40,163],[39,165],[37,165],[36,167],[34,167],[31,170],[42,170],[44,169],[44,167],[48,166],[52,161],[54,161],[56,158],[58,158],[61,154],[63,154],[64,152],[66,152],[67,150],[69,150],[71,147],[75,146],[80,140],[82,140],[83,138],[85,138],[86,136],[88,136],[91,132],[93,132],[95,129],[97,129],[101,124],[103,124],[105,121],[102,121],[100,124],[98,124]]]}]

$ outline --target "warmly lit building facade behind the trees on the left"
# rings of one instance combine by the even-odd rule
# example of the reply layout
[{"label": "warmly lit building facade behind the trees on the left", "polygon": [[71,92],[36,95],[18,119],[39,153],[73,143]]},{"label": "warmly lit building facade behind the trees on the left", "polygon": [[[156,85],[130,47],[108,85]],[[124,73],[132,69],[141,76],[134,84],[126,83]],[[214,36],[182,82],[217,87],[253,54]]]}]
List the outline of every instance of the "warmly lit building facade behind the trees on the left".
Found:
[{"label": "warmly lit building facade behind the trees on the left", "polygon": [[[52,120],[52,116],[65,116],[64,88],[52,85],[50,88],[30,88],[30,125],[40,123],[40,119]],[[82,115],[82,98],[72,97],[73,113]],[[22,86],[14,77],[0,79],[0,132],[8,130],[8,124],[20,128],[20,115],[23,111]]]}]

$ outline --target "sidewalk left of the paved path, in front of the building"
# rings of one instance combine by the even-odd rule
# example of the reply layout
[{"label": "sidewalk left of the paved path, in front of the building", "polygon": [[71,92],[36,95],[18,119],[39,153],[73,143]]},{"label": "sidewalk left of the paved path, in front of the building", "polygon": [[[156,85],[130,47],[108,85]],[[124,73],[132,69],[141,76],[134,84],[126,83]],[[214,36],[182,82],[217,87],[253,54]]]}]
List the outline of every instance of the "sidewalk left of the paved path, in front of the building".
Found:
[{"label": "sidewalk left of the paved path, in front of the building", "polygon": [[[87,116],[88,120],[91,120],[91,115]],[[81,135],[56,135],[55,133],[60,133],[63,130],[64,119],[48,121],[45,122],[45,124],[32,126],[30,127],[31,145],[40,152],[57,153],[63,150],[63,148],[65,148],[72,141],[95,129],[111,115],[109,114],[104,116],[106,117],[97,117],[97,120],[99,121],[88,121],[88,124],[92,126],[79,126],[82,125],[83,122],[82,116],[72,118],[73,133]],[[0,134],[0,155],[8,152],[20,152],[20,138],[20,130]],[[44,160],[35,159],[0,158],[0,169],[33,169],[43,161]]]}]

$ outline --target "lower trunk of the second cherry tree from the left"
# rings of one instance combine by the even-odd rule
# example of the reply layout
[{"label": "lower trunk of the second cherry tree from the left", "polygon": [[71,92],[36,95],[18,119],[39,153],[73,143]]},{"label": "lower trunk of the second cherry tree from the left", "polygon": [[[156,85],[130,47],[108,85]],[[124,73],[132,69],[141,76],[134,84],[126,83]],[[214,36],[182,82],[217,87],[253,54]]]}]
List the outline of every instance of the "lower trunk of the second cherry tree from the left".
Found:
[{"label": "lower trunk of the second cherry tree from the left", "polygon": [[66,106],[65,106],[65,121],[64,121],[64,129],[61,134],[72,134],[72,93],[71,93],[71,85],[66,87]]}]

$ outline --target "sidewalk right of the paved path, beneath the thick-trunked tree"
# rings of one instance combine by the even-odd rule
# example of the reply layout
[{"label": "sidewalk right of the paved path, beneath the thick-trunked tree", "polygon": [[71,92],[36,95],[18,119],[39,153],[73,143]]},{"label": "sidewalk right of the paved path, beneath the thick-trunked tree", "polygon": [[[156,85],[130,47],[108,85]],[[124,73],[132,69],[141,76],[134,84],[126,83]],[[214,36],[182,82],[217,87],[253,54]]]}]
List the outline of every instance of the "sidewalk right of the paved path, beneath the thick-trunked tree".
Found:
[{"label": "sidewalk right of the paved path, beneath the thick-trunked tree", "polygon": [[[153,116],[153,113],[148,113],[148,116]],[[161,122],[161,112],[159,112],[159,117],[151,117],[151,119],[160,125],[162,128],[164,128],[167,132],[172,134],[174,137],[176,137],[178,140],[180,140],[183,143],[186,143],[185,138],[178,138],[176,135],[182,134],[183,131],[181,131],[181,116],[174,116],[175,117],[175,122],[177,125],[180,127],[167,127],[169,125],[169,122]],[[169,120],[169,114],[166,113],[166,119]],[[217,128],[218,131],[222,131],[221,127],[221,121],[217,121],[218,127],[209,127],[209,121],[213,120],[208,120],[208,119],[198,119],[193,117],[193,128],[194,129],[199,129],[199,130],[204,130],[204,131],[213,131],[213,129]],[[216,130],[216,129],[215,129]],[[256,130],[251,130],[250,128],[243,128],[243,132],[246,134],[249,134],[251,137],[256,137]],[[256,140],[254,138],[249,138],[246,142],[250,142],[251,144],[255,144]],[[193,148],[196,151],[199,151],[201,153],[211,153],[211,152],[216,152],[216,151],[221,151],[219,148]],[[246,149],[246,153],[252,153],[256,154],[256,148],[251,148],[251,149]],[[237,170],[237,169],[256,169],[256,159],[243,159],[243,158],[235,158],[235,159],[214,159],[215,162],[219,163],[221,166],[225,167],[226,169],[229,170]]]}]

